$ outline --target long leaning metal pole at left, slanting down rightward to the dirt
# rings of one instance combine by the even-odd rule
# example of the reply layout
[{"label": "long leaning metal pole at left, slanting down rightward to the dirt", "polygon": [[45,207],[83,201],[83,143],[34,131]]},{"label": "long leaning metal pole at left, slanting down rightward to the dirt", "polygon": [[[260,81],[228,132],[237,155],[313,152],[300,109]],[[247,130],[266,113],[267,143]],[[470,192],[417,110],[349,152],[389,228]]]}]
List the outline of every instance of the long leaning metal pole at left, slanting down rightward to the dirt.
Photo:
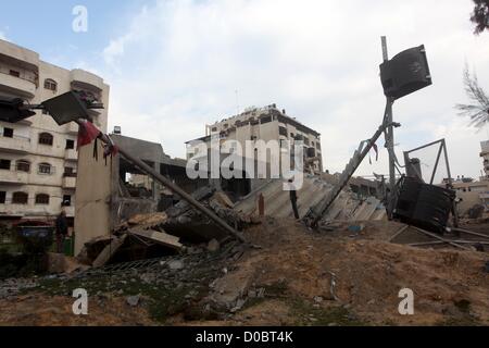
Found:
[{"label": "long leaning metal pole at left, slanting down rightward to the dirt", "polygon": [[[80,122],[77,122],[80,124]],[[99,137],[102,142],[105,145],[112,145],[112,141],[110,140],[110,137],[103,133],[101,133],[101,136]],[[172,183],[167,177],[161,175],[158,173],[154,169],[142,162],[140,159],[134,157],[133,154],[128,153],[123,148],[118,148],[118,152],[121,156],[123,156],[127,161],[129,161],[131,164],[139,167],[145,174],[151,176],[160,184],[164,185],[168,189],[171,189],[173,192],[180,196],[185,201],[187,201],[190,206],[192,206],[195,209],[206,215],[209,219],[214,221],[218,226],[221,226],[224,231],[226,231],[228,234],[234,236],[239,241],[246,243],[246,239],[237,232],[235,228],[229,226],[223,219],[217,216],[214,212],[212,212],[210,209],[202,206],[197,199],[195,199],[192,196],[184,191],[180,187]]]}]

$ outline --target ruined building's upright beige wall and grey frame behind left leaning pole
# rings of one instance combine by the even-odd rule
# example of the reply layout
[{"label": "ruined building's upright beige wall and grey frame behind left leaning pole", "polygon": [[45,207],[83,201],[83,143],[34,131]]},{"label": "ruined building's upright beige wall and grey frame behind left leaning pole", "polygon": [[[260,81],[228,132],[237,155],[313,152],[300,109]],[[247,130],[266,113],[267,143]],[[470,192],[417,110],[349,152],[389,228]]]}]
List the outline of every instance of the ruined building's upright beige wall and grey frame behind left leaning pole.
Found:
[{"label": "ruined building's upright beige wall and grey frame behind left leaning pole", "polygon": [[[160,144],[135,139],[118,134],[111,135],[116,146],[140,158],[156,172],[171,178],[187,192],[208,185],[208,181],[189,179],[186,161],[165,154]],[[93,157],[93,146],[100,158]],[[100,144],[79,149],[78,184],[75,219],[75,254],[88,240],[109,236],[121,222],[140,213],[162,211],[179,200],[172,191],[145,175],[137,166],[121,156],[103,159]],[[146,182],[145,186],[131,184],[131,175]]]}]

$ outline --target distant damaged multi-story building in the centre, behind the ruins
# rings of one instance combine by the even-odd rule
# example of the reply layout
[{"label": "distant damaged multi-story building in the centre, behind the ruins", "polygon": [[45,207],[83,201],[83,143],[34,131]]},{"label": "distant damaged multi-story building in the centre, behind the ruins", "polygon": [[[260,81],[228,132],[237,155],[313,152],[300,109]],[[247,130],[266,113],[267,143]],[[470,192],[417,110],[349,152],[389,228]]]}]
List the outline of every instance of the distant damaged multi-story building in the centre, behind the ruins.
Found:
[{"label": "distant damaged multi-story building in the centre, behind the ruins", "polygon": [[205,137],[187,142],[187,159],[196,154],[199,141],[210,142],[211,135],[214,134],[218,134],[223,141],[237,140],[246,158],[254,157],[254,152],[246,152],[247,140],[264,140],[265,142],[276,140],[280,147],[285,140],[288,140],[290,145],[301,140],[304,146],[304,163],[316,173],[323,171],[321,134],[287,115],[285,110],[278,110],[276,104],[249,108],[239,115],[206,125]]}]

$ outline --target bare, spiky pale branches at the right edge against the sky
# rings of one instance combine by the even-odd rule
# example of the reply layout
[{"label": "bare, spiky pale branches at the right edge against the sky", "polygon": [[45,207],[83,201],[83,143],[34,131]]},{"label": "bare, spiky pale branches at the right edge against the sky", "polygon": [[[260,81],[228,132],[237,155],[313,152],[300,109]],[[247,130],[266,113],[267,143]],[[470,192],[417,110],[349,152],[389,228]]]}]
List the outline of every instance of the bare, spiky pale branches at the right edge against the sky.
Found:
[{"label": "bare, spiky pale branches at the right edge against the sky", "polygon": [[477,132],[482,129],[485,125],[489,124],[489,97],[479,86],[477,75],[471,76],[468,66],[464,70],[464,86],[471,103],[456,104],[461,116],[469,117],[469,126],[477,128]]}]

